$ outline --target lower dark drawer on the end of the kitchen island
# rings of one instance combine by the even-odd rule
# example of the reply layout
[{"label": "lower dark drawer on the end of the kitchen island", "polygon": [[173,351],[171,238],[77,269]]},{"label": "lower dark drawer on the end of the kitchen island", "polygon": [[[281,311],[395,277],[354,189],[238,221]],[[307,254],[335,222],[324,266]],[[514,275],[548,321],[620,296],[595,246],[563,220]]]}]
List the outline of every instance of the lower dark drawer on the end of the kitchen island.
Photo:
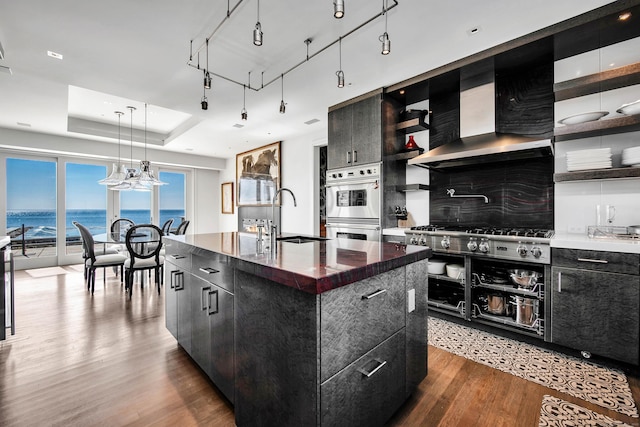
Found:
[{"label": "lower dark drawer on the end of the kitchen island", "polygon": [[382,426],[405,398],[404,329],[320,386],[321,425]]}]

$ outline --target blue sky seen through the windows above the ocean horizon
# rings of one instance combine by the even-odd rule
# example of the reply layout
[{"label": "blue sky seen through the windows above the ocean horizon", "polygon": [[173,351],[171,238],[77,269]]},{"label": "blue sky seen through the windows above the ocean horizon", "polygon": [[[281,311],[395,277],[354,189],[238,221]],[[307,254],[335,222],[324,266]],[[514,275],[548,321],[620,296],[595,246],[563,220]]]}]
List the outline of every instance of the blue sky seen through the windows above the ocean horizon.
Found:
[{"label": "blue sky seen through the windows above the ocean horizon", "polygon": [[[105,166],[67,163],[67,209],[107,208],[107,187],[98,184],[110,170]],[[7,159],[7,210],[55,210],[56,162]],[[168,182],[160,188],[160,209],[184,208],[184,174],[160,172]],[[151,193],[120,192],[122,209],[150,209]]]}]

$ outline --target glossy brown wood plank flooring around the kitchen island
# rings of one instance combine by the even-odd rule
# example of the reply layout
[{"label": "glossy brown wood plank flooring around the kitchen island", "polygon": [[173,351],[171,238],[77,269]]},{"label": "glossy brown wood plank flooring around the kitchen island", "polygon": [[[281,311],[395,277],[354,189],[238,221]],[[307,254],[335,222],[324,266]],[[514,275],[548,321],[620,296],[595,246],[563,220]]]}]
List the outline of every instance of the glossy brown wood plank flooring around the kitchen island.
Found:
[{"label": "glossy brown wood plank flooring around the kitchen island", "polygon": [[[233,426],[233,408],[164,327],[148,285],[111,271],[93,297],[81,266],[16,273],[16,335],[0,341],[0,426]],[[636,402],[640,381],[630,377]],[[638,419],[429,347],[429,375],[389,426],[537,426],[550,394]]]}]

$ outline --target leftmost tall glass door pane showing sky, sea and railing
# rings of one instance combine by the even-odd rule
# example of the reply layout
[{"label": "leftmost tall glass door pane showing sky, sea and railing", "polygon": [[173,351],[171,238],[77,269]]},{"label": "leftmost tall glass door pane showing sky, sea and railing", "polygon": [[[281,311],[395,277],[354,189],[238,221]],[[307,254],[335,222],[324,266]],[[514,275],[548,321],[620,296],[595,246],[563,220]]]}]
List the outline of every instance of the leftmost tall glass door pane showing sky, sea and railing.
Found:
[{"label": "leftmost tall glass door pane showing sky, sea and railing", "polygon": [[16,256],[56,256],[56,162],[7,158],[7,234]]}]

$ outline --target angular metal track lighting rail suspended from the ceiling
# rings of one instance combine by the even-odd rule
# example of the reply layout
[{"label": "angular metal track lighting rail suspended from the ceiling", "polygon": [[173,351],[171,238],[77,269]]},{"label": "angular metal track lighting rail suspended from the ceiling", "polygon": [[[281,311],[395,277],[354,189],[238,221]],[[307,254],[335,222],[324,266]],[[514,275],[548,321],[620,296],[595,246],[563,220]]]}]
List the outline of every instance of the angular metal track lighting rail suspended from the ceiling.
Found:
[{"label": "angular metal track lighting rail suspended from the ceiling", "polygon": [[[233,6],[233,8],[231,10],[229,10],[229,2],[227,2],[227,14],[225,15],[225,17],[222,19],[222,21],[220,21],[220,23],[214,28],[214,30],[209,34],[209,36],[206,38],[206,40],[210,41],[211,38],[220,30],[220,28],[224,25],[224,23],[229,20],[231,18],[231,15],[233,14],[233,12],[236,11],[236,9],[238,8],[238,6],[240,6],[240,4],[243,2],[244,0],[238,0],[238,2],[235,4],[235,6]],[[276,75],[276,77],[274,77],[272,80],[269,80],[267,83],[264,83],[264,81],[262,82],[262,85],[260,87],[252,87],[251,83],[249,82],[249,84],[247,85],[247,83],[243,83],[241,81],[235,80],[231,77],[227,77],[227,76],[223,76],[222,74],[218,74],[214,71],[211,70],[207,70],[209,72],[210,75],[216,76],[218,78],[221,78],[223,80],[226,80],[230,83],[234,83],[238,86],[244,86],[247,89],[253,90],[255,92],[259,92],[260,90],[264,89],[265,87],[269,86],[270,84],[278,81],[279,79],[281,79],[283,76],[286,76],[287,74],[289,74],[291,71],[295,70],[296,68],[300,67],[302,64],[304,64],[305,62],[308,62],[310,59],[316,57],[317,55],[321,54],[322,52],[324,52],[325,50],[329,49],[331,46],[335,45],[336,43],[339,43],[341,39],[344,39],[348,36],[350,36],[351,34],[355,33],[356,31],[360,30],[362,27],[364,27],[365,25],[371,23],[372,21],[376,20],[377,18],[384,16],[386,13],[388,13],[390,10],[392,10],[394,7],[398,6],[398,0],[391,0],[393,2],[393,4],[384,9],[380,12],[375,14],[374,16],[372,16],[371,18],[367,19],[366,21],[364,21],[363,23],[361,23],[360,25],[356,26],[355,28],[351,29],[350,31],[348,31],[347,33],[345,33],[344,35],[338,37],[337,39],[335,39],[334,41],[332,41],[331,43],[327,44],[326,46],[322,47],[320,50],[318,50],[315,53],[312,53],[311,55],[309,55],[309,44],[311,43],[311,39],[306,39],[304,40],[304,43],[307,45],[307,55],[306,57],[298,62],[297,64],[293,65],[292,67],[290,67],[288,70],[283,71],[281,73],[278,73]],[[193,42],[193,40],[191,41]],[[206,48],[206,42],[203,42],[196,50],[195,50],[195,55],[199,55],[200,51],[202,49]],[[193,53],[190,53],[189,56],[189,61],[187,61],[187,65],[193,68],[196,68],[198,70],[200,70],[200,64],[194,64],[193,63]],[[264,73],[264,72],[263,72]]]}]

